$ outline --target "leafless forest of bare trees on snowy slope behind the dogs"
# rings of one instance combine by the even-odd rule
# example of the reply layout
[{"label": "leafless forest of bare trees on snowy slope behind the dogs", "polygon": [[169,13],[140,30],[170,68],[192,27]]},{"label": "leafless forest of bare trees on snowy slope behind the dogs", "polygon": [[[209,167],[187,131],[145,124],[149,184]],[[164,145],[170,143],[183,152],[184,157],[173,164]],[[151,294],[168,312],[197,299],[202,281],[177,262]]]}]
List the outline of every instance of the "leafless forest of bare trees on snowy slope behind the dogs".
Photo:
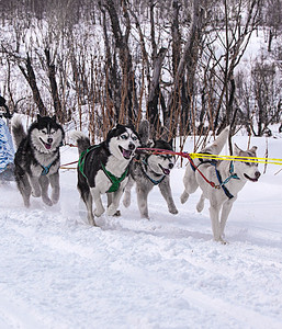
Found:
[{"label": "leafless forest of bare trees on snowy slope behind the dogs", "polygon": [[[153,137],[281,121],[281,0],[1,0],[0,93],[94,141],[115,123]],[[244,56],[260,37],[264,50]],[[251,48],[252,49],[252,48]]]}]

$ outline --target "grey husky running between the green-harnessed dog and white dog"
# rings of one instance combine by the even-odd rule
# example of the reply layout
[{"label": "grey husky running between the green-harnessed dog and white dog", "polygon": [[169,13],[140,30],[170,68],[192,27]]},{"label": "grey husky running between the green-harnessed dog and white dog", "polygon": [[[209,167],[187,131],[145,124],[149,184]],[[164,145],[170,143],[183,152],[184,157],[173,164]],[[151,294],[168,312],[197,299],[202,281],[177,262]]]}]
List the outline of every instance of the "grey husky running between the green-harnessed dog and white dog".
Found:
[{"label": "grey husky running between the green-harnessed dog and white dog", "polygon": [[[149,123],[140,122],[138,131],[143,147],[158,148],[172,151],[172,146],[162,139],[149,140]],[[123,204],[125,207],[131,205],[131,190],[136,183],[137,203],[142,218],[149,218],[148,194],[154,186],[158,185],[160,193],[167,202],[171,214],[178,214],[174,205],[171,188],[170,171],[174,167],[176,158],[171,155],[138,154],[129,168],[129,180],[125,186]]]}]

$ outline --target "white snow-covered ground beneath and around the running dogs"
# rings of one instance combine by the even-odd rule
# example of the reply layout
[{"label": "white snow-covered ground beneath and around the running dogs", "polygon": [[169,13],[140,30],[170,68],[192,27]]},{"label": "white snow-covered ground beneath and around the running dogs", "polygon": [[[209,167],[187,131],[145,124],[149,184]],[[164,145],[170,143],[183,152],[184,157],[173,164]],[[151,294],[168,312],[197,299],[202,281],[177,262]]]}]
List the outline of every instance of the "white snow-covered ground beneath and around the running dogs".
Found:
[{"label": "white snow-covered ground beneath and around the running dogs", "polygon": [[[246,148],[248,137],[234,141]],[[264,157],[266,139],[251,141]],[[281,158],[281,136],[268,147]],[[76,160],[77,149],[64,147],[61,158]],[[281,167],[269,164],[239,193],[223,246],[212,239],[207,204],[195,211],[200,191],[180,203],[184,168],[177,163],[178,215],[154,188],[150,220],[139,218],[133,191],[131,207],[103,215],[100,227],[86,223],[75,170],[60,171],[54,207],[33,198],[26,209],[14,183],[1,185],[0,328],[281,328]]]}]

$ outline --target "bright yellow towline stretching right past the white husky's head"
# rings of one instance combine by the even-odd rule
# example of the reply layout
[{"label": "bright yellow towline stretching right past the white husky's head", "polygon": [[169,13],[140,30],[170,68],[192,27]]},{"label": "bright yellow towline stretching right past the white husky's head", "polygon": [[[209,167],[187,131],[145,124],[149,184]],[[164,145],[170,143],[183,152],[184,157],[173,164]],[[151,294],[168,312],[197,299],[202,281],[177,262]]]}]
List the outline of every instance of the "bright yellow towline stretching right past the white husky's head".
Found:
[{"label": "bright yellow towline stretching right past the white husky's head", "polygon": [[190,154],[190,157],[191,157],[191,159],[212,159],[212,160],[225,160],[225,161],[242,161],[242,162],[282,164],[282,159],[273,159],[273,158],[221,156],[221,155],[207,155],[207,154]]}]

